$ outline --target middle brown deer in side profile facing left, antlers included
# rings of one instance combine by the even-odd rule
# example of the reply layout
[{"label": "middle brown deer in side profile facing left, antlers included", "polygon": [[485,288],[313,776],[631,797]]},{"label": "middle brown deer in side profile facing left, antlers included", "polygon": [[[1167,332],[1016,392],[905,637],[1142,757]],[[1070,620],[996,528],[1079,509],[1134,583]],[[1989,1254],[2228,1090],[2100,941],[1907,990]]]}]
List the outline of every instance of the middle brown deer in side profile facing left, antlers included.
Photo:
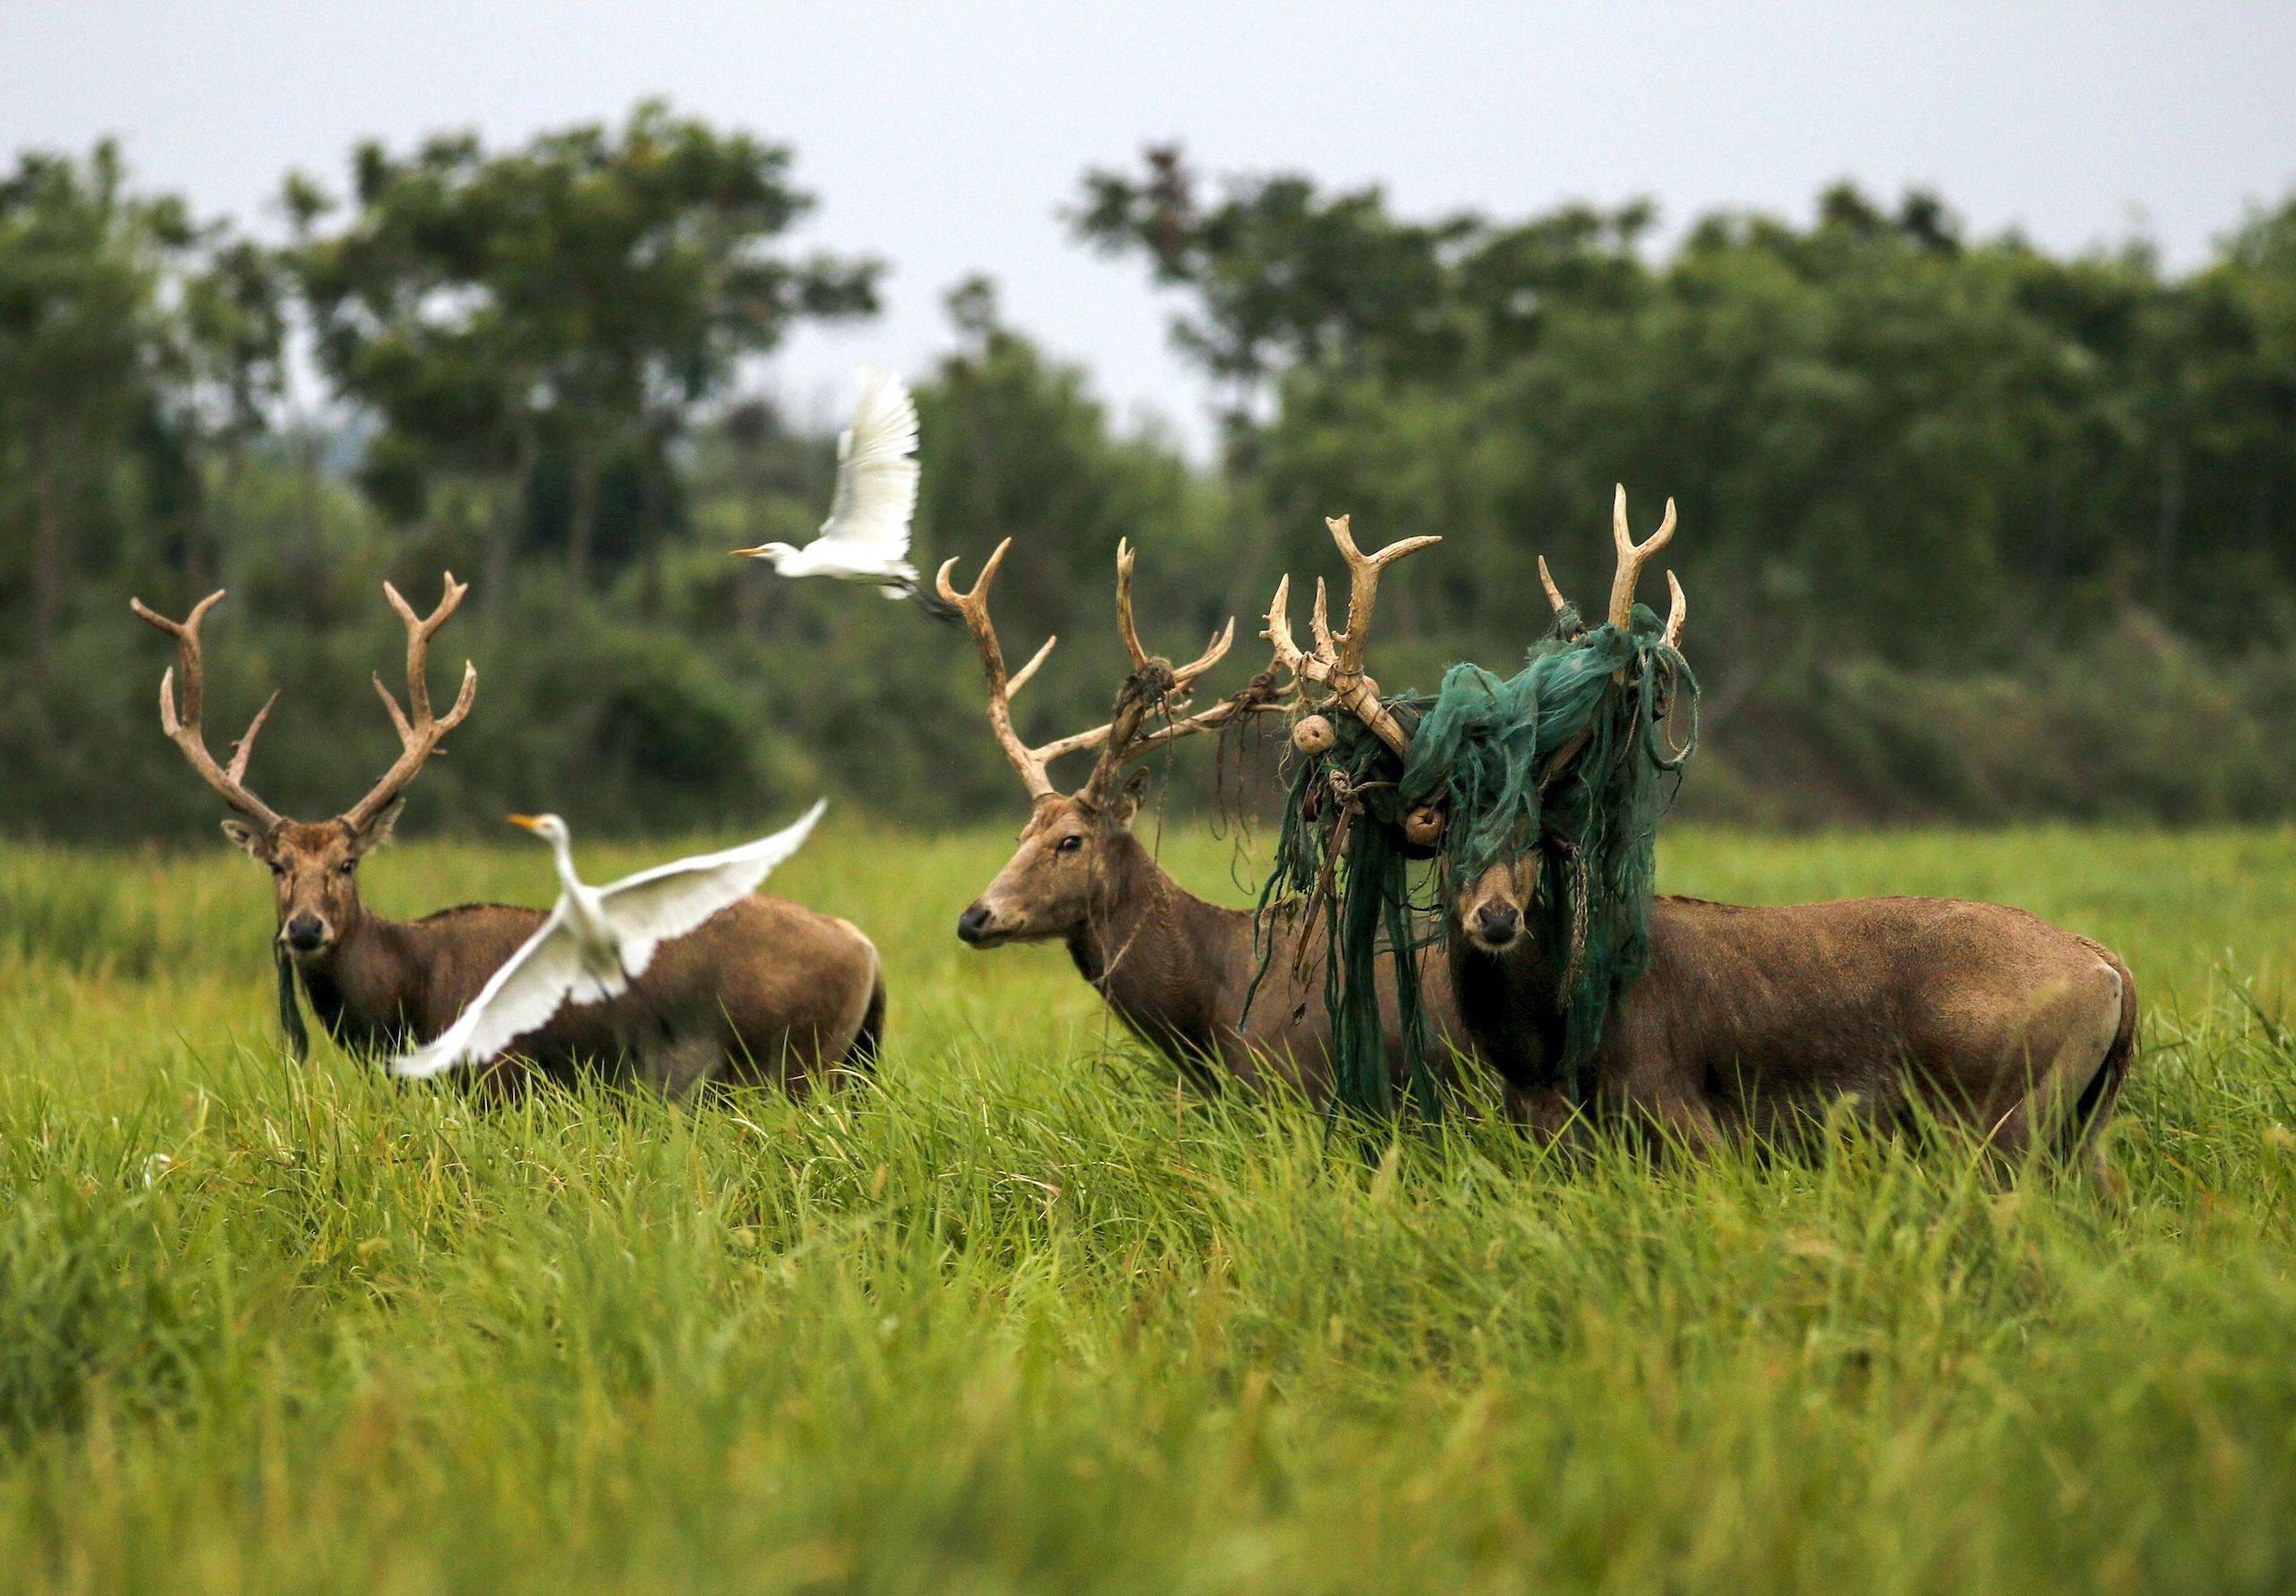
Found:
[{"label": "middle brown deer in side profile facing left, antlers included", "polygon": [[[1013,696],[1058,638],[1045,638],[1026,666],[1006,675],[987,595],[1010,547],[1010,537],[996,544],[969,592],[957,592],[948,579],[955,560],[941,565],[934,581],[941,599],[957,609],[974,634],[987,675],[990,730],[1031,801],[1013,859],[957,916],[957,937],[974,948],[1061,942],[1077,974],[1116,1017],[1203,1088],[1217,1088],[1224,1079],[1247,1088],[1281,1084],[1311,1102],[1327,1102],[1332,1022],[1318,974],[1320,921],[1306,935],[1300,916],[1281,921],[1272,928],[1274,946],[1261,948],[1249,909],[1224,909],[1196,898],[1132,836],[1146,772],[1134,769],[1130,778],[1125,774],[1130,765],[1180,737],[1261,710],[1281,710],[1290,689],[1277,689],[1270,680],[1274,673],[1267,673],[1205,710],[1187,712],[1196,680],[1235,641],[1235,622],[1185,666],[1150,657],[1132,620],[1132,549],[1118,544],[1116,632],[1132,673],[1116,698],[1116,712],[1107,726],[1031,749],[1013,730]],[[1366,618],[1378,570],[1389,558],[1396,558],[1394,551],[1352,556]],[[1150,726],[1150,719],[1159,723]],[[1091,776],[1075,792],[1061,792],[1049,774],[1052,762],[1088,749],[1100,751]],[[1391,981],[1382,985],[1380,1004],[1387,1056],[1401,1061]],[[1444,1040],[1460,1036],[1442,964],[1428,967],[1424,1004],[1442,1052]]]}]

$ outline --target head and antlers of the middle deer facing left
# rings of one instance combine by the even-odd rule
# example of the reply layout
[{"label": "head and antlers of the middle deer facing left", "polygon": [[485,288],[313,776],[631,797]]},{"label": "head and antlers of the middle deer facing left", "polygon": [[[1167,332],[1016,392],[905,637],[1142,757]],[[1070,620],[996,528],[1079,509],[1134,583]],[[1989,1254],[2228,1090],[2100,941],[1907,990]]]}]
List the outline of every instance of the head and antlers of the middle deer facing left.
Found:
[{"label": "head and antlers of the middle deer facing left", "polygon": [[[1146,852],[1132,840],[1132,818],[1139,813],[1148,772],[1132,769],[1127,774],[1127,767],[1180,737],[1226,726],[1240,714],[1277,707],[1279,700],[1267,677],[1261,677],[1205,710],[1187,712],[1196,677],[1219,664],[1235,643],[1235,620],[1231,618],[1210,645],[1185,666],[1148,654],[1132,620],[1132,547],[1118,542],[1116,634],[1125,643],[1132,668],[1116,694],[1116,710],[1107,726],[1031,749],[1013,730],[1013,696],[1026,687],[1058,638],[1045,638],[1029,664],[1010,677],[1006,675],[987,595],[1010,547],[1010,537],[996,544],[969,592],[957,592],[948,579],[955,560],[941,565],[934,579],[941,599],[957,609],[974,634],[990,689],[990,730],[996,735],[1006,762],[1029,790],[1031,804],[1029,824],[1022,827],[1013,859],[957,919],[957,937],[976,948],[1065,937],[1102,914],[1111,893],[1123,891],[1130,870],[1146,859]],[[1075,792],[1061,792],[1052,781],[1052,762],[1063,753],[1086,749],[1100,749],[1093,774]]]}]

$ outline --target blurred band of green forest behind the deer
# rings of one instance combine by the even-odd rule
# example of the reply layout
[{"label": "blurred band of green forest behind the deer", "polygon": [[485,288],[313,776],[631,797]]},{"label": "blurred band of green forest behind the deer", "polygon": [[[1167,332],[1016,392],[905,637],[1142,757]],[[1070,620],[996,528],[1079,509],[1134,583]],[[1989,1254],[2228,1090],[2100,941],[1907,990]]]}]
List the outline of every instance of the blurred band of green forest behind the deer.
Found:
[{"label": "blurred band of green forest behind the deer", "polygon": [[[211,742],[285,689],[255,783],[333,813],[395,746],[379,583],[427,606],[441,567],[473,583],[439,648],[480,698],[413,827],[755,822],[815,790],[914,822],[1015,808],[960,629],[726,556],[801,542],[829,498],[833,439],[760,397],[762,356],[870,317],[886,271],[790,246],[797,152],[641,106],[507,149],[360,147],[280,193],[273,246],[108,147],[0,177],[0,829],[211,818],[126,599],[216,586]],[[1063,636],[1024,730],[1107,710],[1120,535],[1150,648],[1182,652],[1279,572],[1332,572],[1325,514],[1442,533],[1380,622],[1382,680],[1428,687],[1543,629],[1541,551],[1575,595],[1607,581],[1626,482],[1639,526],[1681,503],[1688,811],[2296,808],[2296,197],[2183,276],[2142,243],[1972,239],[1929,193],[1835,188],[1807,223],[1713,214],[1660,246],[1646,204],[1414,218],[1150,149],[1054,202],[1173,299],[1221,443],[1199,466],[1116,427],[992,282],[951,292],[955,351],[909,374],[921,563],[1017,540],[1008,648]],[[1215,760],[1173,776],[1208,797]]]}]

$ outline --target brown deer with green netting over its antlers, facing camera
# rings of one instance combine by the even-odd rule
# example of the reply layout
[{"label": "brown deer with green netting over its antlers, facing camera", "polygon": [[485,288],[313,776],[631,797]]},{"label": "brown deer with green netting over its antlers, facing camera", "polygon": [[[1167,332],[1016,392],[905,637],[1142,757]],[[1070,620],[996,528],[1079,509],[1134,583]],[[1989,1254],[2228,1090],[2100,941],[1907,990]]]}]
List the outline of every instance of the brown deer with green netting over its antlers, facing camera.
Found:
[{"label": "brown deer with green netting over its antlers, facing camera", "polygon": [[[1674,535],[1674,503],[1635,542],[1626,489],[1612,508],[1607,622],[1628,627],[1644,565]],[[1559,622],[1570,611],[1545,560]],[[1688,599],[1667,574],[1667,643]],[[1341,707],[1364,712],[1359,698]],[[1584,742],[1552,756],[1566,781]],[[1649,967],[1616,994],[1580,1100],[1559,1079],[1570,958],[1552,836],[1449,884],[1446,964],[1474,1052],[1515,1118],[1554,1137],[1628,1125],[1665,1148],[1805,1137],[1851,1111],[1894,1130],[1975,1130],[1998,1162],[2080,1162],[2108,1190],[2099,1132],[2135,1056],[2138,992],[2101,944],[2034,914],[1949,898],[1853,898],[1782,907],[1660,896]],[[1575,1132],[1573,1132],[1575,1134]]]}]

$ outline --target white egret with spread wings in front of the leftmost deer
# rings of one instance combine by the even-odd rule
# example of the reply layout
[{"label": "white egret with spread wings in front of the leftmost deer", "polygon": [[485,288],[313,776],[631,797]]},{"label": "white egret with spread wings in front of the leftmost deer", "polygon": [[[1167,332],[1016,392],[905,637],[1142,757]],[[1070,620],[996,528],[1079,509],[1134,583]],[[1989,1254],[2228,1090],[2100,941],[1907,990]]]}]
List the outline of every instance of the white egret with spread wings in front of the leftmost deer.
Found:
[{"label": "white egret with spread wings in front of the leftmost deer", "polygon": [[602,1004],[620,997],[654,962],[654,948],[758,891],[774,866],[804,847],[824,808],[829,804],[820,801],[797,824],[755,843],[638,870],[608,886],[590,886],[574,875],[565,820],[512,815],[512,824],[551,845],[565,891],[542,928],[494,971],[455,1024],[393,1061],[393,1075],[422,1077],[484,1063],[546,1026],[569,999]]}]

